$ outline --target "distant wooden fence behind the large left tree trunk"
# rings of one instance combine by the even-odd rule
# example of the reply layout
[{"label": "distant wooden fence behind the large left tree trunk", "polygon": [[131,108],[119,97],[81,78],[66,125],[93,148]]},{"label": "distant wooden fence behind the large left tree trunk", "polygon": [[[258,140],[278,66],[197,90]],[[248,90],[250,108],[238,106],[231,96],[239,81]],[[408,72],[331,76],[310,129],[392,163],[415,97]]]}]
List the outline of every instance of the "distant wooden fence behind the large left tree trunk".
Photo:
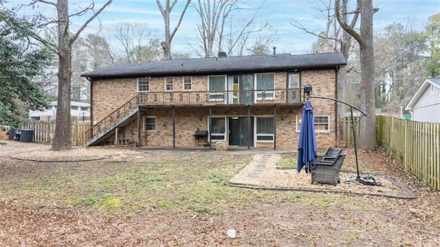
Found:
[{"label": "distant wooden fence behind the large left tree trunk", "polygon": [[[90,128],[90,121],[72,122],[72,145],[82,146],[89,138],[86,138],[85,131]],[[55,135],[55,121],[25,121],[21,129],[34,130],[34,142],[52,143]]]}]

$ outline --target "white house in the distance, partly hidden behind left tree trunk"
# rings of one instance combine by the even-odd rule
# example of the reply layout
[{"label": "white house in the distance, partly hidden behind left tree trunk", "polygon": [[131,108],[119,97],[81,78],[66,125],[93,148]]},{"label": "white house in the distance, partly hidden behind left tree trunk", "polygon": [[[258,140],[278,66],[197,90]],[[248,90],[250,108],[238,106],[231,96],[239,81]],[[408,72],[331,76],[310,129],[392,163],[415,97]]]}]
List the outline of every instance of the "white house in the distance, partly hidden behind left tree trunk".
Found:
[{"label": "white house in the distance, partly hidden behind left tree trunk", "polygon": [[[32,120],[51,121],[56,118],[57,101],[51,101],[47,109],[42,111],[29,111],[29,118]],[[90,118],[90,104],[71,101],[70,115],[76,120],[86,120]]]}]

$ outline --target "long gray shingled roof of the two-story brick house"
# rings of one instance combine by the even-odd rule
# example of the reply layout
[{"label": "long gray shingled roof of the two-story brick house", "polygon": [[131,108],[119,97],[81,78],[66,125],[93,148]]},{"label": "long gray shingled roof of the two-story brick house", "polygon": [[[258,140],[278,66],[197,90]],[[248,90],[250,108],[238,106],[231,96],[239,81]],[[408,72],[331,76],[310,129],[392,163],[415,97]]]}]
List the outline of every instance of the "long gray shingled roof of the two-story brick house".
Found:
[{"label": "long gray shingled roof of the two-story brick house", "polygon": [[123,78],[135,76],[171,76],[184,74],[222,74],[230,72],[258,72],[277,69],[302,69],[346,65],[342,53],[271,54],[254,56],[227,56],[213,58],[186,58],[151,63],[113,65],[81,76],[89,78]]}]

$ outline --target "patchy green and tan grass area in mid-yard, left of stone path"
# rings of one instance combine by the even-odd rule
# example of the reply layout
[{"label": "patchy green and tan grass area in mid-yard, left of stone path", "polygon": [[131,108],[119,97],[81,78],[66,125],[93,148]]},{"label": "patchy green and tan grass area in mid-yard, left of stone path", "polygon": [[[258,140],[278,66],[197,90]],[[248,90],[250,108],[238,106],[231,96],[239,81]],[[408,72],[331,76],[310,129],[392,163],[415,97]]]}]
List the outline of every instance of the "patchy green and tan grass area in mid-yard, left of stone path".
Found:
[{"label": "patchy green and tan grass area in mid-yard, left of stone path", "polygon": [[[230,207],[245,208],[255,200],[270,204],[309,204],[318,208],[338,204],[314,193],[228,186],[228,180],[248,160],[248,155],[192,155],[188,158],[170,155],[160,163],[83,162],[78,164],[79,169],[53,164],[58,167],[35,178],[19,174],[2,178],[0,193],[9,197],[23,195],[23,200],[29,202],[38,199],[43,204],[85,206],[126,215],[153,210],[218,215]],[[285,159],[281,164],[292,166],[296,162]]]}]

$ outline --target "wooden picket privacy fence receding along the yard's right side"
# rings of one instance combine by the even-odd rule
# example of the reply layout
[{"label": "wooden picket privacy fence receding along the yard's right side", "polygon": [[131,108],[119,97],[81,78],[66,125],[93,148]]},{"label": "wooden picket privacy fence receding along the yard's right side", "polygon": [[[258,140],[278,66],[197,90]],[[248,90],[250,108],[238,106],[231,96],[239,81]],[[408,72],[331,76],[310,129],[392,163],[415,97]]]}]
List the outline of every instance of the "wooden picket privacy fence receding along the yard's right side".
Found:
[{"label": "wooden picket privacy fence receding along the yard's right side", "polygon": [[377,143],[404,169],[440,190],[440,123],[377,116]]}]

